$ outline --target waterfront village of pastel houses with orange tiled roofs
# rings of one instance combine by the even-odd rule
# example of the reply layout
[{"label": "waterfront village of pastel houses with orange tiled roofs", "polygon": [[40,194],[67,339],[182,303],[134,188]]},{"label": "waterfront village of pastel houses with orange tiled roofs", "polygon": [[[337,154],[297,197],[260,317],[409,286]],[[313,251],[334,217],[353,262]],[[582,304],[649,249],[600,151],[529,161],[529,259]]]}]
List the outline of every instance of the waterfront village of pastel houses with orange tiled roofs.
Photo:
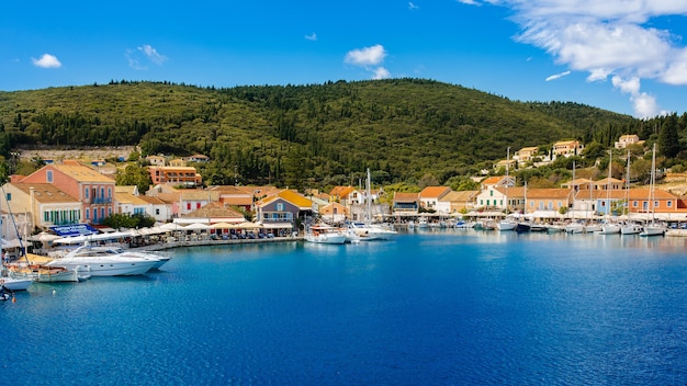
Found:
[{"label": "waterfront village of pastel houses with orange tiled roofs", "polygon": [[[638,143],[635,135],[626,135],[616,148]],[[552,156],[568,157],[583,148],[576,140],[560,141]],[[537,147],[522,148],[495,167],[509,170],[536,157],[545,162],[537,151]],[[142,193],[135,185],[116,185],[116,168],[103,160],[45,159],[40,170],[12,175],[2,186],[2,238],[7,246],[16,247],[19,240],[31,240],[42,231],[63,238],[80,236],[83,228],[79,226],[115,231],[119,229],[103,225],[113,214],[145,215],[158,225],[193,225],[203,230],[198,237],[216,239],[293,236],[319,220],[336,225],[374,220],[396,228],[454,226],[459,219],[476,223],[506,215],[541,224],[612,217],[624,222],[655,219],[678,228],[679,223],[687,222],[687,201],[682,195],[649,186],[630,188],[628,181],[610,175],[598,181],[573,179],[558,189],[529,189],[516,186],[506,171],[505,175],[481,179],[476,191],[426,186],[418,193],[394,192],[393,197],[386,197],[383,188],[352,185],[304,193],[275,186],[202,189],[201,174],[189,164],[207,160],[203,155],[183,159],[148,156],[153,185]]]}]

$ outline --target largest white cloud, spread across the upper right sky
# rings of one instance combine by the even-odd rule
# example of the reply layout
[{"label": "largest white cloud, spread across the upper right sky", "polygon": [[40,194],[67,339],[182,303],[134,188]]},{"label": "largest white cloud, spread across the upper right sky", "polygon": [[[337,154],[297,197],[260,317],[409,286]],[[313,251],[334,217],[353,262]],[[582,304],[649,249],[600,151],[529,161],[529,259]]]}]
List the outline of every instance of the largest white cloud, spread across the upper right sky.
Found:
[{"label": "largest white cloud, spread across the upper right sky", "polygon": [[[517,39],[545,49],[559,65],[588,72],[588,81],[637,78],[613,87],[631,95],[635,112],[658,111],[639,79],[687,86],[687,48],[680,36],[653,27],[652,19],[687,15],[687,1],[675,0],[458,0],[510,8],[522,32]],[[619,78],[620,79],[620,78]]]}]

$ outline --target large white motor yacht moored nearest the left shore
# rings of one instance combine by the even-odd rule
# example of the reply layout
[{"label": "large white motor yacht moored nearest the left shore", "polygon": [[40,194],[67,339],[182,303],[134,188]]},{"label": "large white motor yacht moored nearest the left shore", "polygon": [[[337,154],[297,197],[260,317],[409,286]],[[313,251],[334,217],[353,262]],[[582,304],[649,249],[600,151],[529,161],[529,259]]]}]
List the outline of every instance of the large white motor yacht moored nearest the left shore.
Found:
[{"label": "large white motor yacht moored nearest the left shore", "polygon": [[169,261],[168,257],[125,250],[120,247],[81,246],[46,266],[87,270],[92,276],[142,275]]}]

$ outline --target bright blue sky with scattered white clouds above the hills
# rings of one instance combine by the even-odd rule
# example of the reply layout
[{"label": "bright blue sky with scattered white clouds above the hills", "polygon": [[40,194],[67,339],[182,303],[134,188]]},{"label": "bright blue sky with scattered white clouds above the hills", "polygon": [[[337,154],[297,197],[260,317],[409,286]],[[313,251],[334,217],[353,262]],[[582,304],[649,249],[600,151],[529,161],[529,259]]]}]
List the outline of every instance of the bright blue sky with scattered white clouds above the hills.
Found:
[{"label": "bright blue sky with scattered white clouds above the hills", "polygon": [[687,111],[687,0],[12,1],[0,90],[426,78],[638,117]]}]

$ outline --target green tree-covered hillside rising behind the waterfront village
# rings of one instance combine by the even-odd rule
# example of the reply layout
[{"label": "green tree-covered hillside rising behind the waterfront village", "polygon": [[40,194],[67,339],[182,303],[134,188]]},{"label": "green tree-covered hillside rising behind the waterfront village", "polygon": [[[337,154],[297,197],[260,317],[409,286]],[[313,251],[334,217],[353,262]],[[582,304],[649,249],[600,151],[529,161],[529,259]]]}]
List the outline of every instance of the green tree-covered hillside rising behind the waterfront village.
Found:
[{"label": "green tree-covered hillside rising behind the waterfront village", "polygon": [[[516,102],[423,79],[196,88],[112,81],[0,92],[0,154],[16,147],[137,145],[142,156],[204,154],[209,184],[292,188],[447,183],[504,159],[506,148],[581,139],[604,150],[622,134],[685,159],[687,115],[640,121],[565,102]],[[571,162],[552,166],[570,170]],[[537,173],[534,173],[537,174]],[[547,175],[530,175],[547,178]]]}]

